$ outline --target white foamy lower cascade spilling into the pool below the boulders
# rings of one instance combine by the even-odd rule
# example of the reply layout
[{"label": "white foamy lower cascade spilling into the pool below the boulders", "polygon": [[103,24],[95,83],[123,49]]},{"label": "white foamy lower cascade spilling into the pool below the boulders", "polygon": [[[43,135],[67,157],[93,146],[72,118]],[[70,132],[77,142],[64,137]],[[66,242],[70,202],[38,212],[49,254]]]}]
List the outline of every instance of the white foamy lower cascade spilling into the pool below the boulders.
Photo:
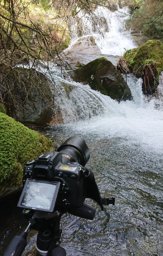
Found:
[{"label": "white foamy lower cascade spilling into the pool below the boulders", "polygon": [[[74,133],[127,138],[148,149],[163,151],[163,99],[161,94],[157,99],[143,96],[141,79],[128,75],[133,100],[121,101],[120,104],[88,85],[57,79],[56,100],[64,123]],[[68,97],[64,83],[71,88]]]}]

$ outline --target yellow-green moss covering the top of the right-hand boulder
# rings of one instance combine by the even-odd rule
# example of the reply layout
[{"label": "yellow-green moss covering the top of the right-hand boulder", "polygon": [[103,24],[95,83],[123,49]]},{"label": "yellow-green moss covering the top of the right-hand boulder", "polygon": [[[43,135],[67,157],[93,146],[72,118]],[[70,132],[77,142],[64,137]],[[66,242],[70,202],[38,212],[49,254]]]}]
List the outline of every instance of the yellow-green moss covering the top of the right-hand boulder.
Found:
[{"label": "yellow-green moss covering the top of the right-hand boulder", "polygon": [[149,61],[155,63],[158,75],[163,70],[163,44],[160,40],[149,40],[138,48],[127,50],[123,57],[130,72],[136,74],[136,77],[141,77],[143,67]]}]

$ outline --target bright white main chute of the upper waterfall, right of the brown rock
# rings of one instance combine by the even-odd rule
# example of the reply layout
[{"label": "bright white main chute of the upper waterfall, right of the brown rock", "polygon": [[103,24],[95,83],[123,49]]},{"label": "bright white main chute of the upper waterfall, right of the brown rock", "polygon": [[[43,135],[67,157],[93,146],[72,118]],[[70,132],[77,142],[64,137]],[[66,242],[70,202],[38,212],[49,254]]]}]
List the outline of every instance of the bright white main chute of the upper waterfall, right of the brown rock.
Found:
[{"label": "bright white main chute of the upper waterfall, right of the brown rock", "polygon": [[109,12],[104,7],[98,7],[95,10],[95,15],[106,19],[108,27],[108,31],[103,31],[103,35],[93,34],[102,54],[123,55],[125,49],[137,46],[132,35],[125,28],[125,20],[129,18],[128,14],[129,9],[126,7],[118,8],[115,12]]}]

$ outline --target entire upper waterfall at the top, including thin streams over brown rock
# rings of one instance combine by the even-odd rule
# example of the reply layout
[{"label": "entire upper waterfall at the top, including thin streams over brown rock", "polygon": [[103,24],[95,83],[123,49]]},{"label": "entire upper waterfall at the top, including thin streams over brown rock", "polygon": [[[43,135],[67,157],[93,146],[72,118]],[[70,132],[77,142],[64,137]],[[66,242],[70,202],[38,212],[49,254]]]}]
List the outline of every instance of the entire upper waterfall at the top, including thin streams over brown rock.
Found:
[{"label": "entire upper waterfall at the top, including thin streams over brown rock", "polygon": [[[78,10],[78,20],[82,29],[82,37],[93,36],[95,43],[100,48],[102,54],[123,55],[125,49],[137,47],[130,31],[126,30],[125,20],[129,18],[129,9],[124,7],[117,11],[110,11],[106,7],[99,6],[94,10],[92,16]],[[74,23],[75,22],[75,23]],[[71,45],[82,37],[76,30],[77,21],[74,20],[70,31],[74,31],[71,38]]]}]

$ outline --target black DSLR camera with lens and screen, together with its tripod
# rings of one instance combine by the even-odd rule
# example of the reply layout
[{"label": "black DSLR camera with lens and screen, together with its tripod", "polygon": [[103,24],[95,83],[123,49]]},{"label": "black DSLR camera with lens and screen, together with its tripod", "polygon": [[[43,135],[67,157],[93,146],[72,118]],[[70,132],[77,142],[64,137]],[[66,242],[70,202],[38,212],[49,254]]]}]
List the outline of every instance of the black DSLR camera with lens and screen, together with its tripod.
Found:
[{"label": "black DSLR camera with lens and screen, together with its tripod", "polygon": [[21,255],[30,228],[39,231],[36,242],[39,255],[65,256],[66,252],[60,246],[62,214],[68,212],[93,220],[95,208],[85,203],[86,198],[96,201],[101,210],[103,205],[114,205],[115,198],[101,198],[93,172],[84,167],[89,157],[85,140],[71,137],[60,145],[57,152],[46,152],[27,162],[18,206],[23,208],[29,225],[22,234],[13,238],[4,256]]}]

